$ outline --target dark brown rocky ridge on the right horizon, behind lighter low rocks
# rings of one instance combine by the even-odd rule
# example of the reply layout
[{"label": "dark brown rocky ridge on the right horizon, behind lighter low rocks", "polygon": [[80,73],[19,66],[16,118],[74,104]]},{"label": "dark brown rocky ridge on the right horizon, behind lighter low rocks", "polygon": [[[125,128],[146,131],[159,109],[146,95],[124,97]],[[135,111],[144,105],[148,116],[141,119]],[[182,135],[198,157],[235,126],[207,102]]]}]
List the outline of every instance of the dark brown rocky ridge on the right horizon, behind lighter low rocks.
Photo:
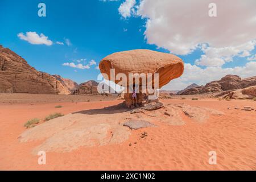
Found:
[{"label": "dark brown rocky ridge on the right horizon, behind lighter low rocks", "polygon": [[256,76],[241,79],[241,77],[237,75],[226,75],[225,77],[221,78],[221,80],[209,82],[205,86],[187,89],[184,92],[181,92],[180,95],[237,90],[253,85],[256,85]]}]

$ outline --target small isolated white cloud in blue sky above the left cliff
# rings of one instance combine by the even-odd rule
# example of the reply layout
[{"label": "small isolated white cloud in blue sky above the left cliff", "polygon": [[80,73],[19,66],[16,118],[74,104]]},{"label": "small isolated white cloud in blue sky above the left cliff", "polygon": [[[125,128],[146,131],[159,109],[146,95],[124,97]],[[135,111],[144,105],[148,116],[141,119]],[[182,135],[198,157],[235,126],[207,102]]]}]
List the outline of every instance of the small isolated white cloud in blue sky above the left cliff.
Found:
[{"label": "small isolated white cloud in blue sky above the left cliff", "polygon": [[26,35],[24,35],[23,32],[20,32],[18,37],[31,44],[45,44],[46,46],[52,45],[52,41],[48,39],[48,36],[45,36],[44,34],[38,35],[36,32],[26,32]]}]

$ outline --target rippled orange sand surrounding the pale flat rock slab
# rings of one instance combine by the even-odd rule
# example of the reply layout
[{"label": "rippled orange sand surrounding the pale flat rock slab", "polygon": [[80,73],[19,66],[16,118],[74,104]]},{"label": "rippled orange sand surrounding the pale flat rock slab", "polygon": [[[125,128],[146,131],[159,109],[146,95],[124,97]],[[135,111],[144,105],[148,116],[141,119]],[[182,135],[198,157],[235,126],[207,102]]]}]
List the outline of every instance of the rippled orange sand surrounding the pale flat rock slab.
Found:
[{"label": "rippled orange sand surrounding the pale flat rock slab", "polygon": [[[246,100],[162,100],[164,104],[185,103],[225,114],[211,116],[204,123],[187,119],[182,126],[157,123],[158,127],[132,130],[129,139],[120,144],[80,147],[70,152],[47,152],[46,165],[39,165],[39,156],[31,152],[42,141],[20,143],[18,140],[20,134],[28,130],[23,126],[28,119],[43,119],[54,112],[68,114],[101,109],[121,102],[0,104],[0,169],[256,170],[256,111],[234,110],[234,107],[244,106],[256,108],[256,102]],[[57,109],[56,105],[63,107]],[[142,138],[144,132],[147,137]],[[216,151],[216,165],[208,163],[209,151]]]}]

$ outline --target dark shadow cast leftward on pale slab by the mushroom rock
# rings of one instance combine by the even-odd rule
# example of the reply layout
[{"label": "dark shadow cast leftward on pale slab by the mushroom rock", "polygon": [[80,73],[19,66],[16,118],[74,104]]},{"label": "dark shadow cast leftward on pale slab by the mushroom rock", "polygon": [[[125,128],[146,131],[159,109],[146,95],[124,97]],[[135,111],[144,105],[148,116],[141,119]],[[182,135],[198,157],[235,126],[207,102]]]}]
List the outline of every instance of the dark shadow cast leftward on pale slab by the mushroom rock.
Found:
[{"label": "dark shadow cast leftward on pale slab by the mushroom rock", "polygon": [[104,107],[101,109],[81,110],[81,111],[77,111],[72,114],[77,114],[77,113],[90,114],[90,115],[93,115],[93,114],[115,114],[115,113],[123,113],[126,111],[130,111],[130,109],[125,106],[124,102],[122,102],[121,104],[114,105],[114,106]]}]

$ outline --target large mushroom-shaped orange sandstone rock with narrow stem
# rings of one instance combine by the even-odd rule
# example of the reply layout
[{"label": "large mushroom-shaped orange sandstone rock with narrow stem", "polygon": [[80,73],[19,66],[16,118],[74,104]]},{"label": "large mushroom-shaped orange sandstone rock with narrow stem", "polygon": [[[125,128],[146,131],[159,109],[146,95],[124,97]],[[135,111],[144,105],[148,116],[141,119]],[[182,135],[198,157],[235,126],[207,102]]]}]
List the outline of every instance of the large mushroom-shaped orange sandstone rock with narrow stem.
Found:
[{"label": "large mushroom-shaped orange sandstone rock with narrow stem", "polygon": [[[148,49],[135,49],[131,51],[116,52],[106,56],[100,61],[99,68],[106,80],[110,80],[110,69],[115,69],[115,75],[123,73],[127,77],[127,87],[129,88],[129,73],[159,74],[159,89],[168,84],[174,78],[180,77],[184,71],[183,61],[170,53],[151,51]],[[120,80],[115,80],[118,84]],[[148,83],[147,83],[148,84]],[[140,88],[141,88],[140,80]],[[122,86],[122,85],[121,85]],[[133,85],[132,85],[133,86]],[[133,87],[131,87],[133,88]],[[154,88],[154,77],[152,78],[152,88]],[[128,89],[127,89],[128,90]],[[125,93],[126,106],[132,105],[132,93]],[[148,102],[148,93],[137,94],[137,104],[143,105]]]}]

